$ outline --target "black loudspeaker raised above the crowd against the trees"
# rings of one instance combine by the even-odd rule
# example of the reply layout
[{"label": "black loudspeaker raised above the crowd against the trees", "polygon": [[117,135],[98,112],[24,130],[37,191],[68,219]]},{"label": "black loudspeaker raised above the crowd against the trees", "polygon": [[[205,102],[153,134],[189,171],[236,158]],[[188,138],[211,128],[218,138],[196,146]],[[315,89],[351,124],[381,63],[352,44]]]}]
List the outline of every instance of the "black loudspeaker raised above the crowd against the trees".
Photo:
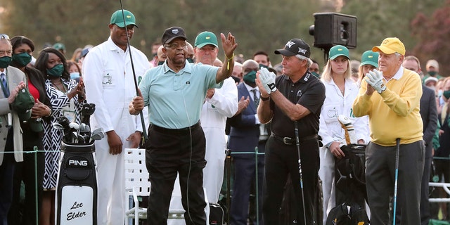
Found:
[{"label": "black loudspeaker raised above the crowd against the trees", "polygon": [[356,48],[356,16],[341,13],[314,13],[314,47],[330,49],[343,45]]}]

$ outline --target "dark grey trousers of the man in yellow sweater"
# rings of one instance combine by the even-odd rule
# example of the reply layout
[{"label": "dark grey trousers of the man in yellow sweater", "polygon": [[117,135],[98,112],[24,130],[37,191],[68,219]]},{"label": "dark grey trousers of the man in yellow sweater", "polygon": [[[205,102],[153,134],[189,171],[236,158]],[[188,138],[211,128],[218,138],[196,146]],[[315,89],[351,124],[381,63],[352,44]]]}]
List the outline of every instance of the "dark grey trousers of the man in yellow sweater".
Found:
[{"label": "dark grey trousers of the man in yellow sweater", "polygon": [[[371,224],[390,224],[390,198],[394,194],[396,146],[366,147],[366,188],[371,208]],[[397,180],[397,209],[401,217],[396,224],[420,224],[420,184],[422,181],[425,145],[416,141],[400,145]]]}]

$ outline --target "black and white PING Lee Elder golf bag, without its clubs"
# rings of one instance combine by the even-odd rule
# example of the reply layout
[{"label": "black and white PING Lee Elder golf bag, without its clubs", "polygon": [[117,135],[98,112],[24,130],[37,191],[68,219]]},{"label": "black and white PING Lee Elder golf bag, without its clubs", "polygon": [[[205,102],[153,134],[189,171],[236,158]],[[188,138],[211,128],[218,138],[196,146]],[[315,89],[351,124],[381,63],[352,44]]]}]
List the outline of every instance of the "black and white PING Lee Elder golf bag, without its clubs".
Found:
[{"label": "black and white PING Lee Elder golf bag, without its clubs", "polygon": [[97,176],[94,141],[61,144],[56,189],[56,224],[97,224]]}]

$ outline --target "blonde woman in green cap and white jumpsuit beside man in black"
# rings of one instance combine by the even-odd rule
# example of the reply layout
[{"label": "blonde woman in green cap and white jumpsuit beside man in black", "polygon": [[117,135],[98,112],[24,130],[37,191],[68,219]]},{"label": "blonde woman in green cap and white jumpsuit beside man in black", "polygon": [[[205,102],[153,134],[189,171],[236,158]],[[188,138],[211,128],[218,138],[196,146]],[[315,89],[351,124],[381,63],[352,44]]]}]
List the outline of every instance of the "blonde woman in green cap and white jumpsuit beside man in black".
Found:
[{"label": "blonde woman in green cap and white jumpsuit beside man in black", "polygon": [[366,122],[364,117],[353,115],[352,104],[359,93],[359,87],[351,78],[349,50],[345,46],[337,45],[330,49],[330,58],[323,68],[321,81],[325,85],[325,101],[320,116],[319,135],[322,137],[323,147],[320,148],[319,176],[323,189],[323,224],[327,214],[335,207],[335,158],[345,157],[340,149],[346,145],[345,131],[340,126],[338,115],[344,115],[352,120],[358,143],[366,140]]}]

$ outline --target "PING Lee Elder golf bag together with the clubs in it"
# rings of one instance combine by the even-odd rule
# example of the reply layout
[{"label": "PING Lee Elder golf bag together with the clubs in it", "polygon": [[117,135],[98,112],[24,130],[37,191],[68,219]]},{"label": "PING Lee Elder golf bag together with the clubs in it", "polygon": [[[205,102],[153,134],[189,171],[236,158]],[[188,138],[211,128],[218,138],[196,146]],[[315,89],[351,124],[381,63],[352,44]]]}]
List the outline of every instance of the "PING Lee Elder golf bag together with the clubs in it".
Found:
[{"label": "PING Lee Elder golf bag together with the clubs in it", "polygon": [[[85,110],[86,109],[86,110]],[[88,110],[89,109],[89,110]],[[82,123],[59,117],[54,129],[64,132],[56,185],[56,224],[97,224],[97,176],[94,141],[103,130],[90,130],[94,104],[85,104]]]}]

